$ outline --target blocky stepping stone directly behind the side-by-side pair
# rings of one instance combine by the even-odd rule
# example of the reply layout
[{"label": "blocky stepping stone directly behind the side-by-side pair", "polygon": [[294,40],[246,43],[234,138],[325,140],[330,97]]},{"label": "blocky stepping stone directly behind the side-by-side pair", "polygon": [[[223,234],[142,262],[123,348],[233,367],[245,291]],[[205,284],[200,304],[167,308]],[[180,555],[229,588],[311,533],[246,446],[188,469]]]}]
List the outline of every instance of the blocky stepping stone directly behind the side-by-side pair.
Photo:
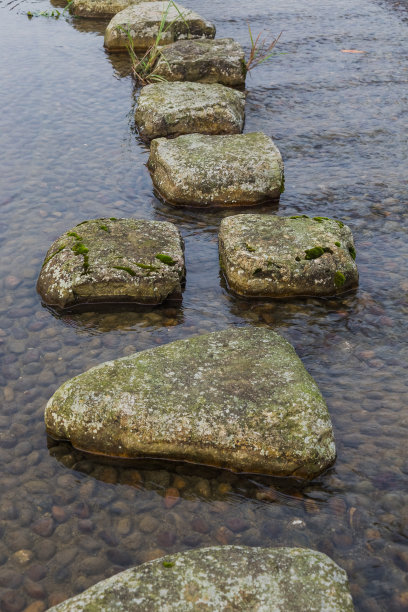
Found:
[{"label": "blocky stepping stone directly behind the side-by-side pair", "polygon": [[157,138],[148,167],[158,194],[171,204],[255,205],[277,200],[283,189],[279,150],[260,132]]}]

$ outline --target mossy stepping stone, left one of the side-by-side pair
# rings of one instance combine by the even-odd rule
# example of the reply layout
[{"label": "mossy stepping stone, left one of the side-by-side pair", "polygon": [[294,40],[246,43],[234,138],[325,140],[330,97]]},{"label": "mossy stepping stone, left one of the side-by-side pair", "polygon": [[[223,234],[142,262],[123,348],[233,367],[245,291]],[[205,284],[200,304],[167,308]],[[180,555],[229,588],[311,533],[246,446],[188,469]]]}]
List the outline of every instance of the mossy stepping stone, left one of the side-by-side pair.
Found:
[{"label": "mossy stepping stone, left one of the side-by-side pair", "polygon": [[180,297],[183,242],[172,223],[103,218],[84,221],[49,248],[37,290],[57,308],[97,302],[160,304]]}]

